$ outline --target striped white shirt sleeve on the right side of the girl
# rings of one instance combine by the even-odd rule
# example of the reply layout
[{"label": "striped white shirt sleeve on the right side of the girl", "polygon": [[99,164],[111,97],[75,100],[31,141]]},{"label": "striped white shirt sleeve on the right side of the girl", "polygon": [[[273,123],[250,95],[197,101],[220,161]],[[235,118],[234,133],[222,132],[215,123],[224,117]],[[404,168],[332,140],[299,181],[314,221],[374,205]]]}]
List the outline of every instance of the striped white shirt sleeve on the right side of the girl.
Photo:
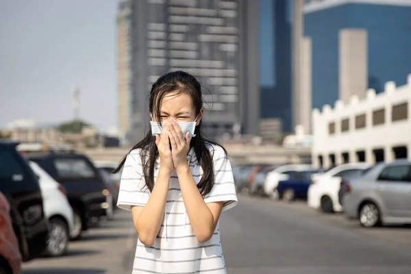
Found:
[{"label": "striped white shirt sleeve on the right side of the girl", "polygon": [[232,166],[222,147],[214,146],[213,154],[214,186],[204,197],[204,202],[224,201],[223,211],[225,211],[234,208],[238,203]]}]

